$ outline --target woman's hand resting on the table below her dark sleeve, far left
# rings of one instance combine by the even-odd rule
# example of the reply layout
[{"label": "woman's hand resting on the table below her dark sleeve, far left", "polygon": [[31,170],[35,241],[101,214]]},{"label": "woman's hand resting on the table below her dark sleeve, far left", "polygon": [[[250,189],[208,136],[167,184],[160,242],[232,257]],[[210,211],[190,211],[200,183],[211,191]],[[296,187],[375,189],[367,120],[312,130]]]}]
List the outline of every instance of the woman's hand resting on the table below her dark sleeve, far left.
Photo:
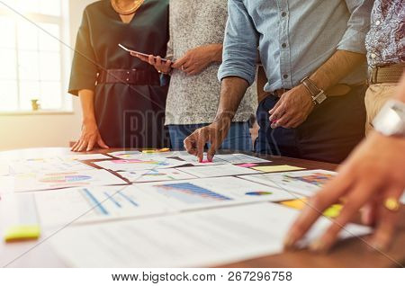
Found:
[{"label": "woman's hand resting on the table below her dark sleeve, far left", "polygon": [[95,145],[108,149],[104,143],[95,121],[85,121],[82,127],[82,136],[71,148],[74,152],[91,151]]}]

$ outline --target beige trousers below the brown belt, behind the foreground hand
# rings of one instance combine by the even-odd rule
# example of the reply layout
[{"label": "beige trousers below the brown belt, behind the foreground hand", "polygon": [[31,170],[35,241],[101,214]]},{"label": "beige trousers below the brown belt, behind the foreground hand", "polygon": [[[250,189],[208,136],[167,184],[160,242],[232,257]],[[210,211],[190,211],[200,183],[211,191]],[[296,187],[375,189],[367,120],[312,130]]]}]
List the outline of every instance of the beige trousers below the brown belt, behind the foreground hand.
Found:
[{"label": "beige trousers below the brown belt, behind the foreground hand", "polygon": [[397,90],[398,84],[378,84],[370,85],[365,93],[365,110],[367,121],[365,122],[365,135],[373,130],[372,122],[374,117],[383,108]]}]

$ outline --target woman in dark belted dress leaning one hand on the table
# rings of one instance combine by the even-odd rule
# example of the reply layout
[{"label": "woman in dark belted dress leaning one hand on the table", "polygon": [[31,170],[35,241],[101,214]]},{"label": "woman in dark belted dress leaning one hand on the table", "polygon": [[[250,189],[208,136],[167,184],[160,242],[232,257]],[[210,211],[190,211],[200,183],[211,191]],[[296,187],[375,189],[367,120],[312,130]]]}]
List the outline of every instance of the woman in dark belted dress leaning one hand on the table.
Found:
[{"label": "woman in dark belted dress leaning one hand on the table", "polygon": [[118,44],[163,56],[167,40],[168,0],[103,0],[85,8],[69,85],[84,116],[73,151],[166,147],[167,88],[153,67]]}]

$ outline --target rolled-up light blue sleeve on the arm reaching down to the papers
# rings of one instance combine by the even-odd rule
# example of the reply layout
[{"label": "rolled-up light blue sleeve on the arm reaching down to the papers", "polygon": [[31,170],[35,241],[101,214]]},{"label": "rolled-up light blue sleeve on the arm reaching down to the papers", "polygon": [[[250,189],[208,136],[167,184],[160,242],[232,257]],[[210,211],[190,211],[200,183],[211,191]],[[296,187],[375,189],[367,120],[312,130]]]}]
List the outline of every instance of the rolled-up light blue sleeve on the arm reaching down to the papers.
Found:
[{"label": "rolled-up light blue sleeve on the arm reaching down to the papers", "polygon": [[252,85],[256,76],[258,33],[242,0],[229,0],[228,13],[218,78],[221,81],[238,76]]}]

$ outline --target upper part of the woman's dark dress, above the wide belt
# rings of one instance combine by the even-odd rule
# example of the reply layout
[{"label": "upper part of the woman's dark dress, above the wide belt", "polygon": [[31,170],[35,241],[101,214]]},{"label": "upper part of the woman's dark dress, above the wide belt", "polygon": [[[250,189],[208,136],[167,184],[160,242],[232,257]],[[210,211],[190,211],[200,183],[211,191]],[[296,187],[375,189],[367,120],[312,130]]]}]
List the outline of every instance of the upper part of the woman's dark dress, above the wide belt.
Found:
[{"label": "upper part of the woman's dark dress, above the wide belt", "polygon": [[110,0],[90,4],[83,13],[77,33],[69,93],[94,90],[100,69],[150,69],[154,67],[131,57],[118,47],[166,56],[168,41],[168,0],[145,0],[129,23],[112,9]]}]

